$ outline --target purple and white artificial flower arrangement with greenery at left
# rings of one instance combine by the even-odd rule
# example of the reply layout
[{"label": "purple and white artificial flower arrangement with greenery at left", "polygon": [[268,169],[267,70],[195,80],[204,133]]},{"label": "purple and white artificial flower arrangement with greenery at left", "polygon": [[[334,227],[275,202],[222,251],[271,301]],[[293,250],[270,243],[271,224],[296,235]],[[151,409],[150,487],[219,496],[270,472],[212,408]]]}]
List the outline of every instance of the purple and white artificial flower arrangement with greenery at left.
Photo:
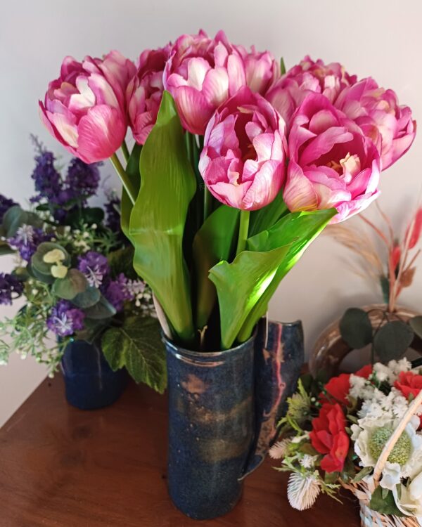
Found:
[{"label": "purple and white artificial flower arrangement with greenery at left", "polygon": [[113,370],[126,365],[137,382],[163,391],[152,294],[134,273],[133,249],[120,230],[120,200],[108,192],[103,208],[89,206],[99,163],[73,158],[62,175],[53,152],[35,145],[30,209],[0,196],[0,249],[15,254],[12,273],[0,273],[0,304],[25,297],[18,313],[0,322],[0,336],[8,337],[0,339],[0,363],[17,351],[53,374],[70,341],[101,340]]}]

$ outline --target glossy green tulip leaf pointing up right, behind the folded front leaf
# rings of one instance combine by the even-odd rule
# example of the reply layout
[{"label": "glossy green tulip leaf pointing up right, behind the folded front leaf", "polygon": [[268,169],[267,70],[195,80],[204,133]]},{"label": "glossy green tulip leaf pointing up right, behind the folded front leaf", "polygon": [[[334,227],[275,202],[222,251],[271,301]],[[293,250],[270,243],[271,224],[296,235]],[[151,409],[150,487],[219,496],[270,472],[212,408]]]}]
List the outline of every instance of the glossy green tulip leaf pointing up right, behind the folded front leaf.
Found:
[{"label": "glossy green tulip leaf pointing up right, behind the folded front leaf", "polygon": [[267,312],[268,302],[276,292],[277,287],[279,287],[281,280],[298,262],[300,256],[335,214],[337,214],[335,209],[314,212],[290,212],[271,228],[249,238],[248,249],[252,251],[268,251],[274,249],[274,247],[289,244],[290,249],[277,269],[271,284],[252,308],[238,335],[239,341],[243,342],[250,337],[258,320]]}]

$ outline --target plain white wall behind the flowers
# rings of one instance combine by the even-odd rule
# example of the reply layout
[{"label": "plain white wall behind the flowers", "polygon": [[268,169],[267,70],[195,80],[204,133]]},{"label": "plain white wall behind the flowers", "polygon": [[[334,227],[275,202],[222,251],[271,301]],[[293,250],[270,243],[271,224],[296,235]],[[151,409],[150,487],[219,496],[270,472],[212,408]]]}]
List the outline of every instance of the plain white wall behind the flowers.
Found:
[{"label": "plain white wall behind the flowers", "polygon": [[[388,0],[37,0],[2,4],[0,16],[1,193],[23,201],[31,195],[32,148],[38,134],[60,152],[39,122],[37,99],[56,78],[65,55],[101,56],[111,48],[136,58],[199,27],[223,28],[235,43],[255,44],[283,56],[287,67],[305,54],[338,60],[359,77],[373,76],[392,87],[422,118],[422,4]],[[397,224],[421,188],[422,139],[382,176],[381,204]],[[105,167],[110,174],[110,167]],[[359,220],[357,220],[359,223]],[[357,224],[355,223],[355,224]],[[352,275],[345,254],[320,238],[283,281],[271,316],[302,318],[307,348],[317,333],[352,304],[376,301],[375,289]],[[0,261],[1,271],[7,264]],[[402,303],[421,308],[422,272]],[[0,311],[3,316],[6,311]],[[11,415],[44,371],[16,360],[0,369],[0,424]]]}]

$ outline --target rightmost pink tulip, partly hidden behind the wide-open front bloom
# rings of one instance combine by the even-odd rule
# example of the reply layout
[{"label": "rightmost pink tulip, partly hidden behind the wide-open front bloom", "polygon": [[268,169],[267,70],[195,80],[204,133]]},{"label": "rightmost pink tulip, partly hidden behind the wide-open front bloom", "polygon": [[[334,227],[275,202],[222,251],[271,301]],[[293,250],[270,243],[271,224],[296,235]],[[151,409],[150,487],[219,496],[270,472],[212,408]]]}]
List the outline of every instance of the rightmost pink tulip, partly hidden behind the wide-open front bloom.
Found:
[{"label": "rightmost pink tulip, partly hidden behind the wide-open front bloom", "polygon": [[409,150],[416,134],[416,121],[408,106],[399,106],[392,90],[380,88],[371,78],[344,89],[335,100],[335,107],[371,138],[381,154],[381,167],[386,169]]}]

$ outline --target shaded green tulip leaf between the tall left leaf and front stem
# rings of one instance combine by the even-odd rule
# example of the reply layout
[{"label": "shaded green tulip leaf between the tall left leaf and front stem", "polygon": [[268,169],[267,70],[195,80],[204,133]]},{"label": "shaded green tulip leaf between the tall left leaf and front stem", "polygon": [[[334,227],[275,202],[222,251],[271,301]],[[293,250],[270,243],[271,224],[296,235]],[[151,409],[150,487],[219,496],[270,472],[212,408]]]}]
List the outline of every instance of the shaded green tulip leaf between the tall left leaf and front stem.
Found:
[{"label": "shaded green tulip leaf between the tall left leaf and front stem", "polygon": [[193,240],[193,261],[196,273],[196,327],[207,324],[215,306],[217,292],[208,278],[210,268],[219,261],[229,260],[238,232],[239,209],[222,205],[203,223]]}]

